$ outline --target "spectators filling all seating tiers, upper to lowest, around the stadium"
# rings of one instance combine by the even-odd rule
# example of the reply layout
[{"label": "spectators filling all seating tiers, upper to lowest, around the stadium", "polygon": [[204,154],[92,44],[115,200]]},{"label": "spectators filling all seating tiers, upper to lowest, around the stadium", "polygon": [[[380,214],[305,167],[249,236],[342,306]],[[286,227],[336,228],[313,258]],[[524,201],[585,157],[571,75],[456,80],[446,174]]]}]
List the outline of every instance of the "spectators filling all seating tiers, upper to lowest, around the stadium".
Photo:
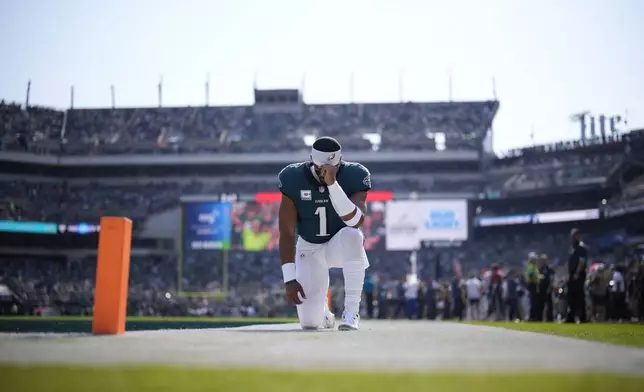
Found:
[{"label": "spectators filling all seating tiers, upper to lowest, around the stadium", "polygon": [[[348,150],[480,151],[497,109],[494,102],[301,105],[291,112],[266,113],[253,107],[83,109],[57,111],[0,103],[0,153],[124,154],[196,152],[274,152],[306,148],[310,135],[337,137]],[[558,189],[569,185],[604,185],[629,156],[641,150],[628,138],[609,137],[581,144],[536,146],[494,158],[480,173],[488,193]],[[366,137],[366,135],[377,135]],[[440,135],[440,137],[439,137]],[[635,134],[633,134],[635,135]],[[635,135],[637,136],[637,135]],[[633,136],[633,137],[635,137]],[[641,155],[644,156],[644,155]],[[248,173],[249,175],[253,173]],[[374,173],[377,177],[377,173]],[[3,174],[0,219],[49,222],[95,222],[103,215],[125,215],[143,221],[176,207],[181,195],[275,191],[275,179],[237,178],[173,181],[163,177],[136,180],[65,180]],[[642,177],[634,177],[619,198],[642,198]],[[473,192],[482,183],[383,176],[374,189],[395,192]],[[544,199],[546,200],[546,199]],[[482,200],[473,203],[480,216],[595,208],[602,201],[580,198],[541,204]],[[228,253],[136,255],[132,258],[130,304],[136,315],[280,316],[292,315],[284,302],[277,247],[277,205],[236,203],[233,246]],[[410,252],[384,247],[384,206],[371,203],[365,222],[370,279],[384,295],[381,303],[400,299],[400,281],[410,271]],[[265,235],[250,249],[244,232]],[[567,229],[566,229],[567,230]],[[554,229],[482,229],[458,247],[426,247],[417,253],[417,273],[438,302],[458,272],[484,275],[497,264],[521,268],[529,252],[538,251],[562,266],[568,247],[564,231]],[[599,255],[597,257],[600,257]],[[618,261],[602,254],[606,263]],[[0,260],[0,278],[25,304],[21,312],[91,313],[95,256],[9,257]],[[0,279],[0,280],[2,280]],[[332,272],[333,303],[342,302],[342,279]],[[190,297],[184,294],[200,293]],[[425,294],[423,294],[425,295]],[[394,312],[395,314],[398,311]]]}]

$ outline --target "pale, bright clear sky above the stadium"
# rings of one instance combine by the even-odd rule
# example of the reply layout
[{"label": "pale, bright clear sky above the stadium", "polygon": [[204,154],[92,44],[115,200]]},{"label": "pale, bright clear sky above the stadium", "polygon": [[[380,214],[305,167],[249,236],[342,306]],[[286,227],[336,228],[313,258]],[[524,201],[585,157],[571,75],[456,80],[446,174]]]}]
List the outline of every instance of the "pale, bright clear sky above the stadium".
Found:
[{"label": "pale, bright clear sky above the stadium", "polygon": [[[644,126],[638,0],[6,1],[0,98],[67,108],[249,104],[260,88],[308,103],[490,99],[495,150],[578,137],[573,113]],[[351,74],[354,87],[350,87]],[[402,75],[402,77],[401,77]],[[402,88],[399,81],[402,79]],[[353,91],[353,93],[351,93]]]}]

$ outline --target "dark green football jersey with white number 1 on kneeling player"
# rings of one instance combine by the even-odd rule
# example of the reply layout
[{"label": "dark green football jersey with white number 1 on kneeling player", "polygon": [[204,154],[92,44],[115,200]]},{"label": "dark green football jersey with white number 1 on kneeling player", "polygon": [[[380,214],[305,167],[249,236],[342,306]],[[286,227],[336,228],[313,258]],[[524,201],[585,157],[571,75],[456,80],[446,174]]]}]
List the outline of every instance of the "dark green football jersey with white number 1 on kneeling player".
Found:
[{"label": "dark green football jersey with white number 1 on kneeling player", "polygon": [[[346,225],[335,212],[326,186],[313,175],[311,166],[311,162],[286,166],[278,175],[278,186],[295,203],[298,235],[308,242],[322,244]],[[357,162],[342,162],[336,181],[348,197],[371,189],[371,173]]]}]

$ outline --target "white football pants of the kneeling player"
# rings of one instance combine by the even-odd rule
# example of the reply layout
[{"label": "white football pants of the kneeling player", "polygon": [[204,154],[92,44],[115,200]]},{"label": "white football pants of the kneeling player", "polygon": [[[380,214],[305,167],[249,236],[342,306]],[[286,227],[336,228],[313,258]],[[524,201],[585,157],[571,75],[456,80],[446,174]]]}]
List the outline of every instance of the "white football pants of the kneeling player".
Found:
[{"label": "white football pants of the kneeling player", "polygon": [[360,310],[365,270],[369,267],[364,250],[364,235],[359,229],[344,227],[324,244],[312,244],[301,237],[295,247],[295,277],[306,299],[297,305],[303,328],[319,328],[324,322],[329,268],[342,268],[344,275],[344,310]]}]

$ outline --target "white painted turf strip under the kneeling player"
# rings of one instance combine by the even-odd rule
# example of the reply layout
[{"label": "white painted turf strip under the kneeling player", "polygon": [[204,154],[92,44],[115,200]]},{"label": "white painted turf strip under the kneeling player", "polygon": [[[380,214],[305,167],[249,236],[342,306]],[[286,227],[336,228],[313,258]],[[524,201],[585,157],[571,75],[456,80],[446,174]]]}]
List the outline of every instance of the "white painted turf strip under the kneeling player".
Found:
[{"label": "white painted turf strip under the kneeling player", "polygon": [[479,325],[405,320],[364,320],[355,333],[271,324],[132,331],[124,336],[0,334],[0,363],[644,376],[641,348]]}]

